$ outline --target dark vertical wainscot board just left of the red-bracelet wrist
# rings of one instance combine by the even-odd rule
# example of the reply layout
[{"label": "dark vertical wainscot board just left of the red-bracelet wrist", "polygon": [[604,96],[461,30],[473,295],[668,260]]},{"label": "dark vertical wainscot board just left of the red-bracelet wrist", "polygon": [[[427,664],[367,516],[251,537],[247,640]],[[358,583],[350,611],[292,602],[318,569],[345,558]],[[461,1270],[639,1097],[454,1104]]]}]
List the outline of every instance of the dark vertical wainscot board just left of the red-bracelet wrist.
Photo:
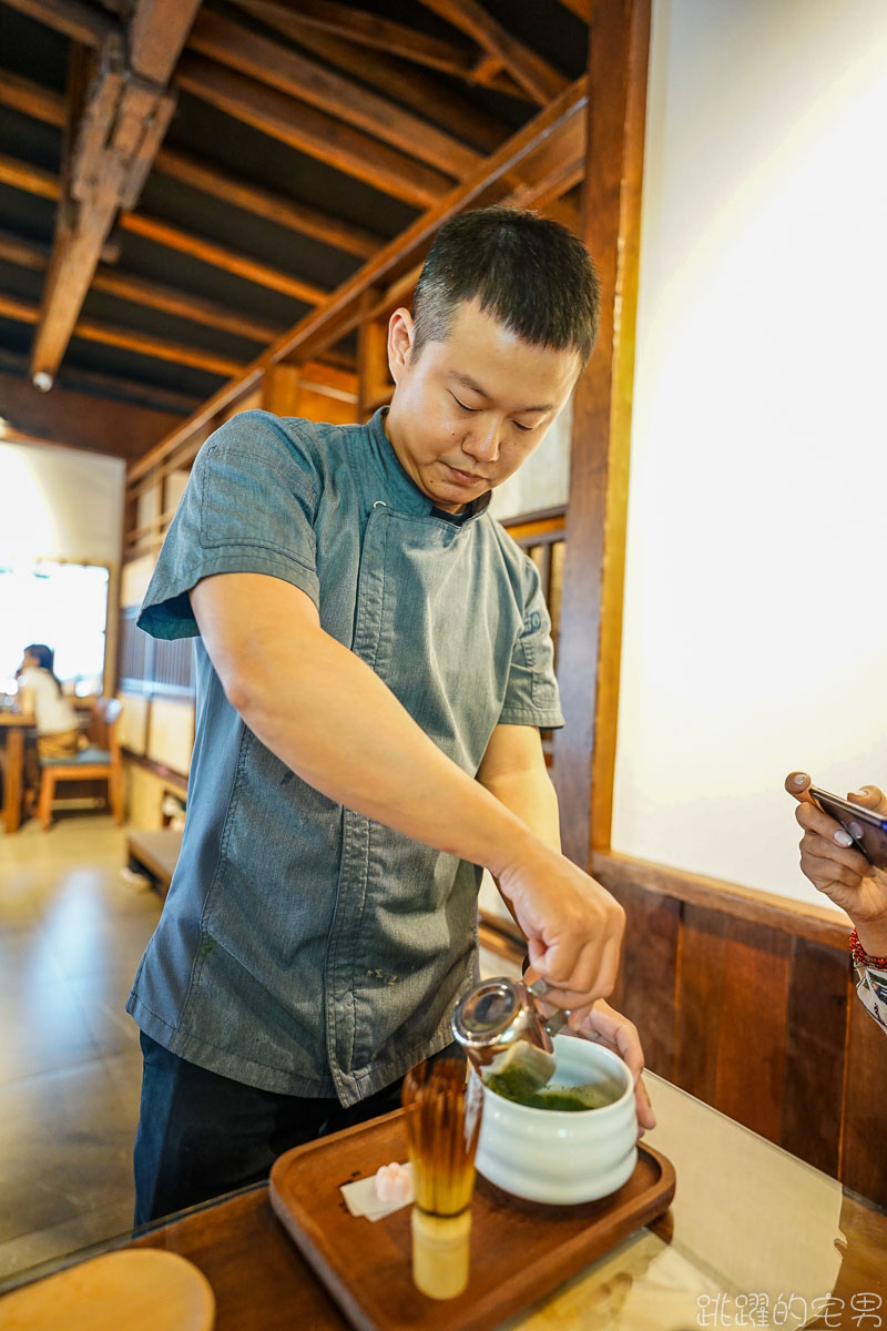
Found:
[{"label": "dark vertical wainscot board just left of the red-bracelet wrist", "polygon": [[856,1001],[850,974],[847,952],[794,940],[779,1142],[835,1177],[848,1009]]}]

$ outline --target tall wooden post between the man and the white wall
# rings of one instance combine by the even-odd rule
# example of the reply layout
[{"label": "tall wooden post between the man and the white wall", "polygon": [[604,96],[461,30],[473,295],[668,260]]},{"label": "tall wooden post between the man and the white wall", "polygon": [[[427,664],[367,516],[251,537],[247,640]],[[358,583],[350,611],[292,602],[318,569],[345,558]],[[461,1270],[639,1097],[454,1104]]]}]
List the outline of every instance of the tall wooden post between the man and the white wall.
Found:
[{"label": "tall wooden post between the man and the white wall", "polygon": [[553,777],[565,853],[610,843],[650,0],[592,0],[582,240],[602,286],[573,422]]}]

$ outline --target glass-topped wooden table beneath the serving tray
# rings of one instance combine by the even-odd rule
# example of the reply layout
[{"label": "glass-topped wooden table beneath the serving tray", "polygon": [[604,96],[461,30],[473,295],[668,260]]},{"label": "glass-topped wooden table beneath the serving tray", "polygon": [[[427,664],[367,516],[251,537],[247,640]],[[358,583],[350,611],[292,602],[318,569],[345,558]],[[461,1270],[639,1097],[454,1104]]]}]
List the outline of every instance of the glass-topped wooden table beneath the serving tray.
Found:
[{"label": "glass-topped wooden table beneath the serving tray", "polygon": [[[658,1126],[648,1139],[677,1170],[672,1209],[504,1326],[887,1327],[887,1214],[670,1083],[650,1075],[649,1086]],[[872,1151],[880,1150],[883,1135],[872,1139]],[[263,1185],[76,1256],[133,1243],[178,1252],[203,1271],[215,1292],[215,1331],[348,1326],[278,1223]],[[483,1235],[473,1259],[483,1260]],[[8,1287],[70,1260],[45,1263]]]}]

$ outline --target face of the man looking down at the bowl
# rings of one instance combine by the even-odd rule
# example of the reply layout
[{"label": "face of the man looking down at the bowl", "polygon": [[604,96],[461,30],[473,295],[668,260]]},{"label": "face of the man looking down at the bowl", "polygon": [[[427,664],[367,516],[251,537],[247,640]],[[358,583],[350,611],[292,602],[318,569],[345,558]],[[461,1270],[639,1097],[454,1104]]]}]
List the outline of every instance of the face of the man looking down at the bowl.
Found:
[{"label": "face of the man looking down at the bowl", "polygon": [[414,323],[388,327],[395,393],[386,430],[400,466],[439,508],[459,512],[500,486],[544,439],[580,370],[577,351],[532,346],[481,311],[456,310],[448,337],[412,355]]}]

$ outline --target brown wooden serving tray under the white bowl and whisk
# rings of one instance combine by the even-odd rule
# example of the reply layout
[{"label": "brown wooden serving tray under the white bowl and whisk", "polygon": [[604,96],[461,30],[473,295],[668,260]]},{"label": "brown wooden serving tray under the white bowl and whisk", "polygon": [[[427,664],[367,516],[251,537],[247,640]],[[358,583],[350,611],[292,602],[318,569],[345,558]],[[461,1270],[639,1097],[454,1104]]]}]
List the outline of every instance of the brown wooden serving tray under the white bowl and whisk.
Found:
[{"label": "brown wooden serving tray under the white bowl and whisk", "polygon": [[442,1327],[483,1331],[549,1294],[596,1256],[668,1210],[674,1169],[638,1147],[628,1183],[598,1202],[524,1202],[477,1175],[471,1279],[439,1302],[412,1283],[410,1207],[370,1222],[348,1214],[339,1186],[406,1161],[402,1109],[297,1146],[271,1170],[271,1206],[317,1276],[360,1331]]}]

